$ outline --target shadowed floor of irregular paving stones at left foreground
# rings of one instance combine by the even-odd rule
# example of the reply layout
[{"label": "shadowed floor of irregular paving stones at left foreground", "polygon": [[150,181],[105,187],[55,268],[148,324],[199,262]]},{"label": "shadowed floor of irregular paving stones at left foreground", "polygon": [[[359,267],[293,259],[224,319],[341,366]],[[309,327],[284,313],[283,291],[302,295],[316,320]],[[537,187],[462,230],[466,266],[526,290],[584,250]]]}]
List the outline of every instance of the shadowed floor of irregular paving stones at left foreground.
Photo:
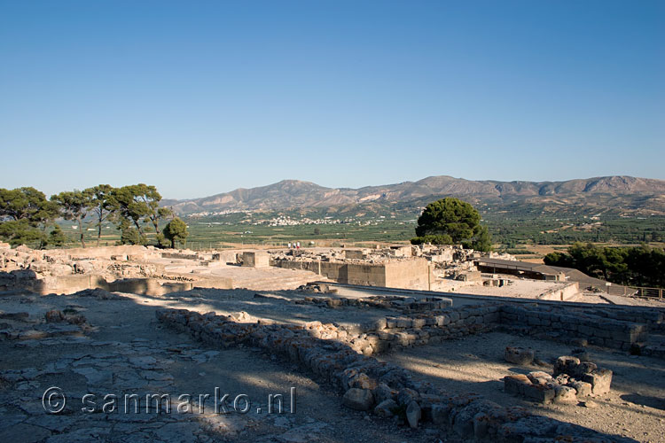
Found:
[{"label": "shadowed floor of irregular paving stones at left foreground", "polygon": [[[206,312],[233,296],[246,297],[247,306],[254,303],[246,291],[226,295],[0,296],[0,323],[5,330],[23,331],[20,339],[0,341],[0,441],[438,441],[438,430],[411,430],[343,408],[338,392],[273,355],[246,347],[206,348],[155,320],[155,309],[162,306]],[[84,315],[88,323],[82,328],[66,325],[65,330],[43,323],[53,308]],[[290,312],[276,309],[275,314],[286,319]],[[28,316],[15,318],[15,313]],[[45,398],[47,407],[60,408],[58,392],[44,396],[54,386],[66,396],[59,414],[49,414],[43,406]],[[292,387],[294,413],[289,404]],[[229,394],[219,409],[226,408],[228,414],[215,413],[215,388],[218,398]],[[132,398],[124,404],[124,396],[132,394],[142,399],[138,412]],[[169,394],[170,412],[162,405],[158,413],[154,400],[146,410],[145,396],[152,394]],[[200,397],[206,394],[210,397]],[[233,410],[239,394],[238,410],[245,408],[245,400],[251,403],[247,413]],[[270,394],[284,396],[284,413],[266,412]]]}]

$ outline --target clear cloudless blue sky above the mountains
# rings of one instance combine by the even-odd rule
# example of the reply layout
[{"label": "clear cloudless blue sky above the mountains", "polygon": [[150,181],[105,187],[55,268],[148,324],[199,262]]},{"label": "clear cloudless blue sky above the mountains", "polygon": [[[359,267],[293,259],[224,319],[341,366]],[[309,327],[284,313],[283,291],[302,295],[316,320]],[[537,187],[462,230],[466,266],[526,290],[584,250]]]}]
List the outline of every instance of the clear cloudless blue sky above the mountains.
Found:
[{"label": "clear cloudless blue sky above the mountains", "polygon": [[0,0],[0,187],[665,179],[665,2]]}]

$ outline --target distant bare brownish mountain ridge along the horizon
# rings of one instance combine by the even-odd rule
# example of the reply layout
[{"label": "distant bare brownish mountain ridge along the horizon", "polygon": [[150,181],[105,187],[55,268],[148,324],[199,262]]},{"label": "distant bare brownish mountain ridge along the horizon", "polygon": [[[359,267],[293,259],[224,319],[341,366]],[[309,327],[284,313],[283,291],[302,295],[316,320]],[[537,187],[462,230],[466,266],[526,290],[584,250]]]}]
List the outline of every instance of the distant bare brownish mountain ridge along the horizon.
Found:
[{"label": "distant bare brownish mountain ridge along the horizon", "polygon": [[472,181],[448,175],[426,177],[359,189],[326,188],[316,183],[283,180],[252,189],[239,188],[210,197],[162,200],[177,214],[221,211],[280,211],[290,209],[426,204],[435,198],[457,197],[484,206],[516,203],[541,206],[588,206],[637,214],[665,215],[665,181],[626,175],[563,182]]}]

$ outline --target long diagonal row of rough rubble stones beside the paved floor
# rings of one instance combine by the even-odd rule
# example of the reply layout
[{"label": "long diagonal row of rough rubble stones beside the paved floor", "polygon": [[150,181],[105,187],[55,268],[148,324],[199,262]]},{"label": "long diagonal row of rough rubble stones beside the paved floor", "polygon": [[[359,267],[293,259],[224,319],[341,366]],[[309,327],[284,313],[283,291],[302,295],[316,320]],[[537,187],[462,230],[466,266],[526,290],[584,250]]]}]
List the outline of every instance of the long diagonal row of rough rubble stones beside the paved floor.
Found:
[{"label": "long diagonal row of rough rubble stones beside the paved floor", "polygon": [[340,341],[316,338],[314,328],[261,320],[237,323],[231,316],[185,309],[163,309],[156,315],[160,322],[212,346],[246,344],[279,354],[337,386],[348,408],[394,417],[412,427],[429,422],[463,439],[624,441],[524,408],[504,408],[475,394],[442,392],[414,381],[406,369],[359,354]]}]

